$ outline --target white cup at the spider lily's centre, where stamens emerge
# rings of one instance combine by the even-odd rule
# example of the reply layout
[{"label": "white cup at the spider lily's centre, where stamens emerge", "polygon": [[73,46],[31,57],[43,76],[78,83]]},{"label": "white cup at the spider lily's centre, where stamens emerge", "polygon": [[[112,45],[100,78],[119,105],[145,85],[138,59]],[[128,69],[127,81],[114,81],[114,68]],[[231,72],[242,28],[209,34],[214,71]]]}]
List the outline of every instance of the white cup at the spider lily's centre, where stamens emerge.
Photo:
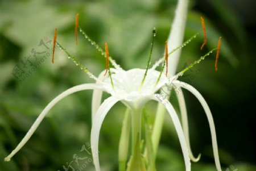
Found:
[{"label": "white cup at the spider lily's centre, where stamens emerge", "polygon": [[164,82],[168,81],[168,78],[162,74],[157,83],[160,72],[154,69],[148,69],[143,85],[142,80],[146,72],[145,69],[110,70],[112,72],[114,89],[109,77],[106,78],[103,86],[108,93],[113,97],[121,99],[130,109],[138,109],[143,106],[150,99],[149,97],[158,91],[159,85],[163,85]]}]

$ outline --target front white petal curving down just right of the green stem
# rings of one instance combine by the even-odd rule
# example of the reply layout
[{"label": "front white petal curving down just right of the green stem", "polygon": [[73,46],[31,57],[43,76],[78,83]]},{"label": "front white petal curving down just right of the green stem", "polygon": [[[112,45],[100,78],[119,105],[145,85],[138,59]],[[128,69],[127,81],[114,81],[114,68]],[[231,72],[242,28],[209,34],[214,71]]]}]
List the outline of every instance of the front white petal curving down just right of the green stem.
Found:
[{"label": "front white petal curving down just right of the green stem", "polygon": [[187,148],[183,130],[182,130],[182,127],[180,124],[180,120],[176,114],[176,111],[174,110],[174,107],[171,105],[171,103],[169,101],[164,99],[162,97],[162,95],[160,95],[160,94],[152,95],[152,99],[162,103],[166,107],[168,113],[170,114],[170,116],[172,118],[172,122],[174,123],[175,129],[177,132],[177,136],[179,137],[179,140],[180,140],[180,145],[181,145],[181,150],[183,152],[186,171],[190,171],[191,170],[191,162],[189,159],[188,148]]}]

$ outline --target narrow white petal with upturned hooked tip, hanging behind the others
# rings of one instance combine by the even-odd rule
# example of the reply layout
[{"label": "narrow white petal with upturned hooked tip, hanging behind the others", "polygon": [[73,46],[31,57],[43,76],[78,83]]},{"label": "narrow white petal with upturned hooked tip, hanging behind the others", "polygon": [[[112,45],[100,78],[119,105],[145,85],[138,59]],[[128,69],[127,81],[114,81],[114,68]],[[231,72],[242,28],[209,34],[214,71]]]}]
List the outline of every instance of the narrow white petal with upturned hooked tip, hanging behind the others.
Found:
[{"label": "narrow white petal with upturned hooked tip, hanging behind the others", "polygon": [[188,114],[187,114],[187,108],[186,108],[186,104],[185,104],[185,99],[184,99],[184,95],[183,92],[180,88],[180,86],[175,87],[175,93],[177,95],[177,100],[179,102],[179,106],[180,106],[180,113],[181,113],[181,123],[182,123],[182,127],[183,127],[183,132],[184,132],[184,136],[187,142],[187,147],[188,147],[188,153],[189,153],[189,157],[193,162],[197,162],[200,160],[201,154],[199,154],[196,157],[193,156],[193,153],[191,151],[191,147],[190,147],[190,142],[189,142],[189,131],[188,131]]}]

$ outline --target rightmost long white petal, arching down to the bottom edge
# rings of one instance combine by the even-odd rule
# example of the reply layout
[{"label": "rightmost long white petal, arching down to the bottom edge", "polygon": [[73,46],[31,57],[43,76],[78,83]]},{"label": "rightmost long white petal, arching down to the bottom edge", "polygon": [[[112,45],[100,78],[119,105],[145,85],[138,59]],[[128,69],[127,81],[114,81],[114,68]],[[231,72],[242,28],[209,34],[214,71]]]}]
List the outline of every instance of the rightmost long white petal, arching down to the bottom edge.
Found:
[{"label": "rightmost long white petal, arching down to the bottom edge", "polygon": [[213,122],[212,112],[210,112],[210,108],[207,105],[207,102],[205,101],[203,96],[199,93],[199,91],[197,91],[191,85],[188,85],[185,82],[181,82],[181,81],[177,81],[177,80],[173,81],[172,83],[176,86],[181,86],[184,89],[187,89],[188,91],[190,91],[193,95],[195,95],[195,97],[199,100],[199,102],[203,106],[205,114],[207,115],[207,119],[209,122],[210,134],[212,135],[212,146],[213,146],[213,155],[214,155],[215,165],[216,165],[217,170],[221,171],[220,159],[218,156],[218,145],[217,145],[215,126],[214,126],[214,122]]}]

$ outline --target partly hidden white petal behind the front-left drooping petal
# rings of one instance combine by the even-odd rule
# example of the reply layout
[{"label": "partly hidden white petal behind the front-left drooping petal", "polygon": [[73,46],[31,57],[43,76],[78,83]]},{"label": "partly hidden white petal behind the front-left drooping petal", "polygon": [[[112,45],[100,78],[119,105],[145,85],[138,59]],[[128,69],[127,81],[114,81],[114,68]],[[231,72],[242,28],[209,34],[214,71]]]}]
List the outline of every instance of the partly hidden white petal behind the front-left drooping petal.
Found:
[{"label": "partly hidden white petal behind the front-left drooping petal", "polygon": [[[104,76],[105,70],[100,73],[98,76],[98,80],[103,81],[104,78],[107,76]],[[96,84],[99,84],[99,81],[96,81]],[[98,110],[98,107],[101,105],[101,98],[102,98],[102,91],[101,90],[93,90],[93,95],[92,95],[92,121],[93,118]]]}]

